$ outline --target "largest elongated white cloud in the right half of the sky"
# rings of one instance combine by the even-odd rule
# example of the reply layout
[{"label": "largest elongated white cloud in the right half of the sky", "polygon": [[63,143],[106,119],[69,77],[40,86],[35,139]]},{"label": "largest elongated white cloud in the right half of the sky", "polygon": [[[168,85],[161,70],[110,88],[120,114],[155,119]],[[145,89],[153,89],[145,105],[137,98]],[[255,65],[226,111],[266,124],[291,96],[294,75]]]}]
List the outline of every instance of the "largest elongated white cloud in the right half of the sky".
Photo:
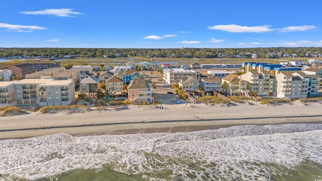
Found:
[{"label": "largest elongated white cloud in the right half of the sky", "polygon": [[255,33],[264,33],[273,31],[274,29],[269,29],[270,25],[263,25],[263,26],[239,26],[239,25],[215,25],[212,27],[208,27],[211,30],[221,30],[226,32],[233,32],[233,33],[243,33],[243,32],[255,32]]}]

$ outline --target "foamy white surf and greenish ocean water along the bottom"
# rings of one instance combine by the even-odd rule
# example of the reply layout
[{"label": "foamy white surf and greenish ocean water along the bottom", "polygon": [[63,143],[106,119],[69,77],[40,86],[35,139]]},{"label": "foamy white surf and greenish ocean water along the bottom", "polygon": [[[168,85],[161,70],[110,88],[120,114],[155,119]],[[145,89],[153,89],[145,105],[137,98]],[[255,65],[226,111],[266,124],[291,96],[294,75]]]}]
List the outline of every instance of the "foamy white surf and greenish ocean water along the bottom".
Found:
[{"label": "foamy white surf and greenish ocean water along the bottom", "polygon": [[322,180],[322,124],[0,141],[0,180]]}]

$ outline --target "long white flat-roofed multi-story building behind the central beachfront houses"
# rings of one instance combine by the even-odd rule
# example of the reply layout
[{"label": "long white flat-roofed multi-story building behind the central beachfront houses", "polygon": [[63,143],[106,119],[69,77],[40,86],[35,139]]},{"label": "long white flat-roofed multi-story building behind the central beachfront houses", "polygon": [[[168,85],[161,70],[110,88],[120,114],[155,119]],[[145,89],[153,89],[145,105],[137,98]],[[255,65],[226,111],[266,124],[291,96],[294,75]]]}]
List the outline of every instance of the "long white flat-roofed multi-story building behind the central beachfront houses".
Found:
[{"label": "long white flat-roofed multi-story building behind the central beachfront houses", "polygon": [[198,80],[198,73],[193,70],[183,69],[183,68],[164,68],[163,78],[169,85],[179,83],[181,78],[193,77]]}]

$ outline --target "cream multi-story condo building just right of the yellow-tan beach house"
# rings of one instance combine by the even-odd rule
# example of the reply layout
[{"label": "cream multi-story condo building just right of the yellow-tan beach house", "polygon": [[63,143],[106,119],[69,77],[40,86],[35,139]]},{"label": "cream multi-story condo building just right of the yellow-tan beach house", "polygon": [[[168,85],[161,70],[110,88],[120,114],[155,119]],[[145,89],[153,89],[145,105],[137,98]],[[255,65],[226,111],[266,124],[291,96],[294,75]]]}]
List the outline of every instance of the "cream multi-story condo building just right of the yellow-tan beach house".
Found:
[{"label": "cream multi-story condo building just right of the yellow-tan beach house", "polygon": [[275,78],[268,71],[249,71],[238,78],[248,81],[247,89],[258,96],[276,96]]}]

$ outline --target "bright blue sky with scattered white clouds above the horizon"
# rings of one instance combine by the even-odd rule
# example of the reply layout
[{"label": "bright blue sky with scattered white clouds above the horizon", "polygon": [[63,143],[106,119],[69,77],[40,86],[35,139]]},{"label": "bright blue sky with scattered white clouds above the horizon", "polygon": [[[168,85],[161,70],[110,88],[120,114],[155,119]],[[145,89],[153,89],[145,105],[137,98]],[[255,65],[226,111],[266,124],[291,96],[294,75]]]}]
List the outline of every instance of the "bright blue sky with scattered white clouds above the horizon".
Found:
[{"label": "bright blue sky with scattered white clouds above the horizon", "polygon": [[321,47],[321,5],[276,0],[2,0],[0,47]]}]

